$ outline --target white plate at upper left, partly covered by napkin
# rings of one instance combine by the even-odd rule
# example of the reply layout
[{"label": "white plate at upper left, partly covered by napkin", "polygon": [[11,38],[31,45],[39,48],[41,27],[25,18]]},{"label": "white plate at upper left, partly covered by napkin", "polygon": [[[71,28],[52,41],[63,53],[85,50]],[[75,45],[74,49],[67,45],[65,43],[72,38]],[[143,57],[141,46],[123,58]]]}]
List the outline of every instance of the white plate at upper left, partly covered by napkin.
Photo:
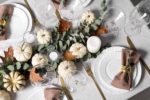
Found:
[{"label": "white plate at upper left, partly covered by napkin", "polygon": [[0,41],[0,49],[7,49],[23,40],[23,35],[32,29],[32,16],[23,5],[10,3],[14,6],[13,14],[8,27],[8,39]]}]

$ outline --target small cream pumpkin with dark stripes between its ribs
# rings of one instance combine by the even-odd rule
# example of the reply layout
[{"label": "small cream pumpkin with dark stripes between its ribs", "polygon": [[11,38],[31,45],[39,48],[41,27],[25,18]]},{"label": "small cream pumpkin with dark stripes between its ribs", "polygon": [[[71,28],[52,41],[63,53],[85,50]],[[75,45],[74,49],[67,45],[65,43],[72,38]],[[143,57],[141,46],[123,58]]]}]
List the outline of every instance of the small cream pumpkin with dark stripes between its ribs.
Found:
[{"label": "small cream pumpkin with dark stripes between its ribs", "polygon": [[21,75],[19,72],[10,72],[8,75],[3,77],[3,86],[6,88],[7,91],[10,92],[17,92],[18,90],[22,89],[26,82],[25,77]]}]

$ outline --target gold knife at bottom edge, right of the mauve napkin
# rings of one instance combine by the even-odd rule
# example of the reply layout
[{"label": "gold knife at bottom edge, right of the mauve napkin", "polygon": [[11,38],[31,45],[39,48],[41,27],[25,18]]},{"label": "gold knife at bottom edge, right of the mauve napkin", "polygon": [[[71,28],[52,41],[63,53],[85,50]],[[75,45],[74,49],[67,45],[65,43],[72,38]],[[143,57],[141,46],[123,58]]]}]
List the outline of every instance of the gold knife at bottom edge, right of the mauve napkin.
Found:
[{"label": "gold knife at bottom edge, right of the mauve napkin", "polygon": [[62,88],[62,91],[65,93],[65,95],[67,96],[67,99],[68,100],[73,100],[69,90],[67,89],[66,87],[66,84],[64,82],[64,79],[62,77],[60,77],[60,82],[61,82],[61,88]]}]

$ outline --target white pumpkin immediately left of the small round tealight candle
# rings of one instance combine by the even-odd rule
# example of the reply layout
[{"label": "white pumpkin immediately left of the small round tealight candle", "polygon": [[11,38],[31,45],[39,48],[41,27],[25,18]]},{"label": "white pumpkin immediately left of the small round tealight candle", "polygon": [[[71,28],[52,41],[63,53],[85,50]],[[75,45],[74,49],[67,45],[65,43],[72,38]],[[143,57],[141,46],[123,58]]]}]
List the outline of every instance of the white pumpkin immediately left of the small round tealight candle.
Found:
[{"label": "white pumpkin immediately left of the small round tealight candle", "polygon": [[44,67],[46,64],[48,64],[48,57],[46,55],[37,53],[32,57],[32,65],[34,67],[38,67],[38,65]]}]

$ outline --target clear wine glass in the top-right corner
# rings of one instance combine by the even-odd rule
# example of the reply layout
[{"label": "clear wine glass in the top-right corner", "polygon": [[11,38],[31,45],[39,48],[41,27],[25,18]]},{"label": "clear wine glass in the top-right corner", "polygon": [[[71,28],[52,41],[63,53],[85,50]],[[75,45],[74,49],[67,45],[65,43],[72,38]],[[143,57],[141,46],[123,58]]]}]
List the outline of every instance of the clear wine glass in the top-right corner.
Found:
[{"label": "clear wine glass in the top-right corner", "polygon": [[150,1],[142,0],[129,14],[125,25],[125,32],[128,36],[141,33],[143,26],[150,23]]}]

